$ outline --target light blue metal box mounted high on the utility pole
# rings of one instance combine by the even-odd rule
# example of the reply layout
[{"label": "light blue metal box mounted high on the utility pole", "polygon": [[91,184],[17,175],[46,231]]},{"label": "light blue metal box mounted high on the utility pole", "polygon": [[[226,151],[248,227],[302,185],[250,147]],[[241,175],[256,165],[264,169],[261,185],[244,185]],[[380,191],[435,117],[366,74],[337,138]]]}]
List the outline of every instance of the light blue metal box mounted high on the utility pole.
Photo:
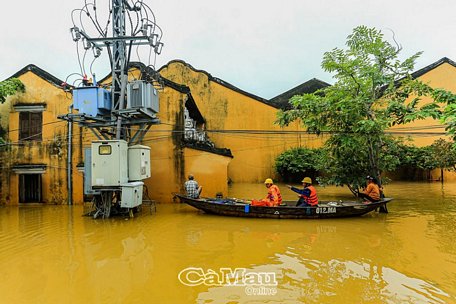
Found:
[{"label": "light blue metal box mounted high on the utility pole", "polygon": [[80,114],[92,117],[111,111],[111,93],[99,87],[81,87],[73,90],[73,106]]}]

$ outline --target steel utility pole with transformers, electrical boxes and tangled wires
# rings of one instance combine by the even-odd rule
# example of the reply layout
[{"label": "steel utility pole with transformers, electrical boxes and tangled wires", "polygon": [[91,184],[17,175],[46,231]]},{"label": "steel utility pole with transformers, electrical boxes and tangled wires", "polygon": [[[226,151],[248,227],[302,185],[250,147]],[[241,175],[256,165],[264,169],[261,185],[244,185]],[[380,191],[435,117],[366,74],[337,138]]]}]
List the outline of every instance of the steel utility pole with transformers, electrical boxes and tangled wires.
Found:
[{"label": "steel utility pole with transformers, electrical boxes and tangled wires", "polygon": [[[136,153],[137,145],[142,142],[150,127],[159,123],[156,116],[159,110],[158,93],[154,84],[161,83],[160,77],[155,71],[155,66],[150,62],[148,65],[144,65],[146,68],[141,71],[140,80],[130,83],[128,71],[132,48],[136,48],[139,56],[138,48],[148,47],[150,61],[150,54],[153,53],[156,56],[161,53],[163,33],[155,22],[152,10],[142,0],[136,2],[108,0],[110,1],[109,18],[105,25],[99,21],[98,4],[100,1],[89,1],[84,1],[85,5],[82,9],[73,10],[73,27],[70,31],[73,41],[78,44],[78,59],[81,58],[79,43],[85,50],[84,59],[87,52],[92,50],[95,61],[101,55],[102,50],[106,49],[111,64],[112,83],[110,87],[106,85],[101,87],[96,83],[95,74],[93,74],[93,83],[90,83],[85,74],[85,62],[80,61],[82,81],[79,86],[72,88],[73,105],[78,113],[68,113],[59,118],[88,128],[98,138],[98,141],[92,142],[92,164],[85,164],[84,172],[86,177],[87,175],[92,177],[93,189],[90,190],[97,192],[95,194],[96,210],[93,216],[106,218],[111,215],[112,207],[116,210],[130,209],[124,206],[126,199],[122,192],[124,189],[129,191],[129,187],[141,184],[142,193],[140,180],[150,176],[150,167],[148,170],[141,168],[141,173],[149,173],[130,173],[131,176],[134,176],[132,179],[131,176],[128,176],[128,165],[125,167],[124,164],[127,162],[126,151],[132,148],[131,154],[136,157],[138,155]],[[77,14],[79,14],[79,18],[77,18]],[[127,18],[128,22],[126,22]],[[78,21],[81,24],[76,24]],[[83,24],[84,21],[90,26]],[[110,23],[112,23],[111,31],[109,31]],[[93,31],[90,32],[89,28]],[[94,61],[90,64],[90,72],[92,72]],[[94,151],[94,147],[99,150]],[[141,147],[141,149],[147,150],[147,147]],[[107,153],[108,149],[114,149],[115,153],[111,150]],[[147,153],[141,153],[141,155],[144,154]],[[146,160],[146,163],[150,166],[150,154],[148,155],[149,160]],[[142,162],[144,161],[142,160]],[[102,168],[104,165],[106,168]],[[117,171],[112,172],[112,167]],[[134,167],[136,168],[136,166]],[[112,178],[113,173],[117,174],[114,175],[115,178]],[[135,189],[135,191],[139,190]],[[121,197],[122,206],[119,205]]]}]

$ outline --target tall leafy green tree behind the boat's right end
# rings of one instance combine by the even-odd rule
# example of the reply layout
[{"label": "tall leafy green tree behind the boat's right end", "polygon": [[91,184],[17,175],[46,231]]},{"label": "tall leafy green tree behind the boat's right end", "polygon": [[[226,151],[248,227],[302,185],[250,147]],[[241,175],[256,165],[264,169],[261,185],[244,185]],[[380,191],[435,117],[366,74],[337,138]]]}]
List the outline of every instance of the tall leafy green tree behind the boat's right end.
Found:
[{"label": "tall leafy green tree behind the boat's right end", "polygon": [[[416,119],[438,118],[437,102],[454,98],[413,79],[411,72],[421,53],[401,61],[401,50],[379,30],[356,27],[347,37],[346,49],[335,48],[323,56],[322,68],[333,73],[334,85],[294,96],[292,108],[279,111],[277,122],[282,126],[300,120],[310,133],[329,134],[327,183],[347,185],[356,193],[366,174],[379,177],[394,169],[399,164],[391,153],[396,141],[386,130]],[[435,102],[423,104],[423,96]]]}]

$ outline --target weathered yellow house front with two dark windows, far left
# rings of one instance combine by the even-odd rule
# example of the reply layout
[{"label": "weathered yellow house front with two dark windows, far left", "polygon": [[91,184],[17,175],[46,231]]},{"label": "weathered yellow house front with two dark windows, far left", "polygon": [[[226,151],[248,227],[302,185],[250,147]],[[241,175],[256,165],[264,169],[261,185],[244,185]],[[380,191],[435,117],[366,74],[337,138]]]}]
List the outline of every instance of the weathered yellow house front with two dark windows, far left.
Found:
[{"label": "weathered yellow house front with two dark windows, far left", "polygon": [[[8,141],[0,156],[0,202],[66,202],[68,124],[58,120],[57,115],[68,112],[71,94],[60,87],[61,80],[35,65],[24,67],[12,77],[19,78],[26,90],[0,105]],[[81,157],[74,153],[72,162]],[[73,188],[81,191],[81,177],[74,177]]]}]

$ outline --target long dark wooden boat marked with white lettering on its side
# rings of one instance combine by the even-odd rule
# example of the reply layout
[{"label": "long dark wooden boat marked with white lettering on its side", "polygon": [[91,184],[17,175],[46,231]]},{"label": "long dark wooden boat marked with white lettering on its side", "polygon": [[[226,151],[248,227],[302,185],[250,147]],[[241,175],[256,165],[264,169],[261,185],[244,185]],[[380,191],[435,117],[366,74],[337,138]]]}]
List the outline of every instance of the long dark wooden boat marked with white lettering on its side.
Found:
[{"label": "long dark wooden boat marked with white lettering on its side", "polygon": [[244,200],[233,198],[190,198],[176,194],[182,203],[209,214],[276,219],[322,219],[361,216],[384,208],[392,198],[378,202],[322,201],[316,207],[296,207],[296,202],[285,202],[278,207],[251,206]]}]

